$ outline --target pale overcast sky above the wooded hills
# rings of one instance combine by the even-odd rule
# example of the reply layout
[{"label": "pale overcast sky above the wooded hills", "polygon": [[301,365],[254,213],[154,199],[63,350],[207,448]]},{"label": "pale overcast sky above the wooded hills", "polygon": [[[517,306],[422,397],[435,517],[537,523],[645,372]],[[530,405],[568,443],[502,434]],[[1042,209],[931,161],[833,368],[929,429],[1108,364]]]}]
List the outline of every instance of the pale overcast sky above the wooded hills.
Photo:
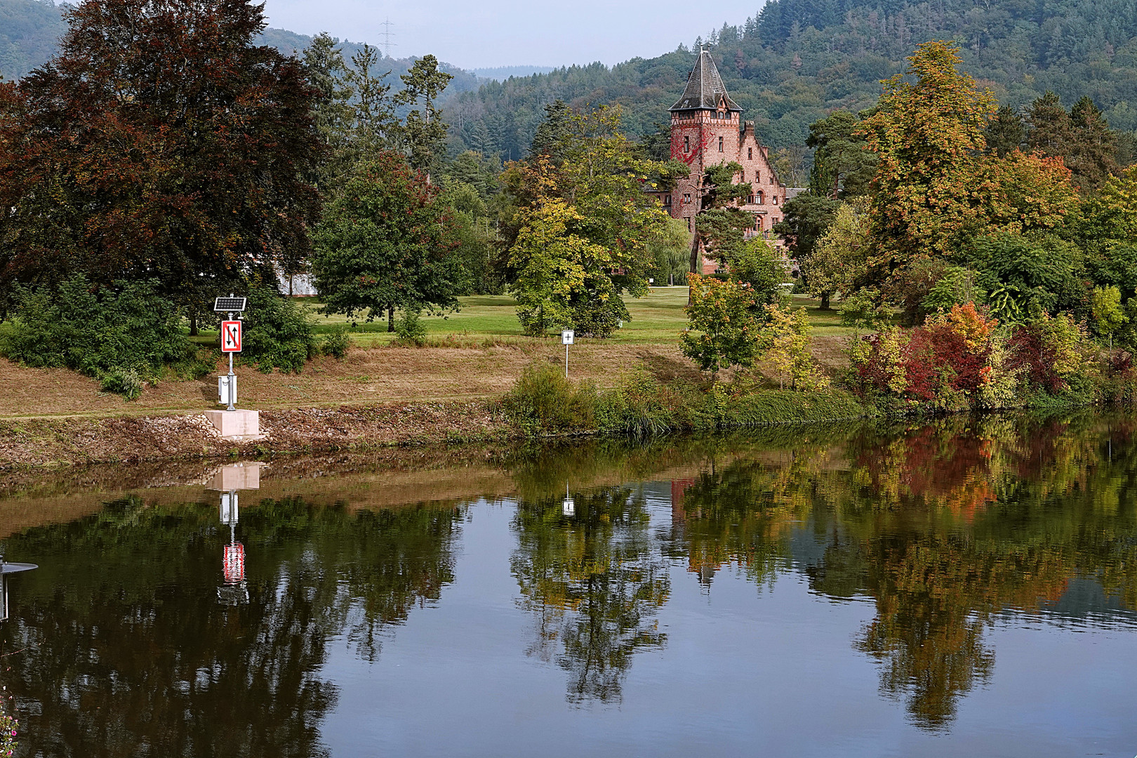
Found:
[{"label": "pale overcast sky above the wooded hills", "polygon": [[[723,22],[741,24],[763,0],[266,0],[268,25],[381,43],[391,19],[396,57],[433,52],[462,68],[607,65],[688,47]],[[694,17],[694,19],[692,19]]]}]

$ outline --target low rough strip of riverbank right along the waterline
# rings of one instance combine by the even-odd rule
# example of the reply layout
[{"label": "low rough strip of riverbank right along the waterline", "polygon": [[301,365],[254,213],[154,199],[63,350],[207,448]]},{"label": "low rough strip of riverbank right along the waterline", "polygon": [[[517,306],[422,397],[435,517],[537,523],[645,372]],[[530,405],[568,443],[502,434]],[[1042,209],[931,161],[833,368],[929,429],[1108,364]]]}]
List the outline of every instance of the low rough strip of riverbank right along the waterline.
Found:
[{"label": "low rough strip of riverbank right along the waterline", "polygon": [[[534,430],[511,418],[504,400],[505,395],[467,401],[262,410],[263,439],[242,442],[222,439],[202,413],[3,419],[0,420],[0,473],[637,434],[636,427],[623,424],[608,428]],[[1056,410],[1059,406],[1074,409],[1099,403],[1055,403],[1051,399],[1045,405],[1046,410]],[[1020,409],[1029,410],[1030,403]],[[673,418],[663,431],[713,432],[873,418],[914,422],[952,415],[943,410],[906,410],[898,414],[895,408],[881,409],[843,390],[765,390],[739,397],[707,393],[702,408]]]}]

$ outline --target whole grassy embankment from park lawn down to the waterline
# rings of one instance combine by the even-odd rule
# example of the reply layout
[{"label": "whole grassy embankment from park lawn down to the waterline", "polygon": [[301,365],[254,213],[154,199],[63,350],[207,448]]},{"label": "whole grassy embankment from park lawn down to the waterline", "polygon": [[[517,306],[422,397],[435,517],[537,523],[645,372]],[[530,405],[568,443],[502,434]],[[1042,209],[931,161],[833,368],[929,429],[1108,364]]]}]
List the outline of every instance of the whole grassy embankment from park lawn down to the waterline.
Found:
[{"label": "whole grassy embankment from park lawn down to the waterline", "polygon": [[[709,428],[848,418],[860,406],[844,392],[804,395],[761,390],[711,398],[706,377],[679,353],[686,325],[684,288],[655,290],[629,303],[632,320],[612,340],[581,340],[571,349],[571,393],[587,417],[559,428],[526,424],[500,399],[526,367],[559,375],[564,348],[555,336],[520,333],[508,298],[466,298],[447,319],[425,319],[429,344],[401,348],[385,323],[360,324],[343,360],[310,361],[300,374],[238,369],[240,406],[260,409],[266,440],[219,440],[200,411],[216,407],[216,380],[163,381],[126,402],[94,380],[64,369],[23,368],[0,359],[0,470],[108,461],[321,450],[392,444],[509,440],[526,433]],[[803,302],[799,300],[799,302]],[[305,301],[315,310],[318,303]],[[811,309],[819,358],[841,361],[845,330],[832,313]],[[317,318],[317,332],[342,318]],[[3,328],[0,326],[0,328]],[[216,336],[202,334],[202,344]],[[218,360],[218,370],[224,361]],[[646,392],[629,393],[629,386]],[[639,384],[637,384],[639,383]],[[583,389],[581,389],[583,388]],[[608,391],[608,388],[621,388]],[[586,398],[586,395],[588,395]],[[587,402],[586,402],[587,400]],[[583,405],[581,405],[583,402]]]}]

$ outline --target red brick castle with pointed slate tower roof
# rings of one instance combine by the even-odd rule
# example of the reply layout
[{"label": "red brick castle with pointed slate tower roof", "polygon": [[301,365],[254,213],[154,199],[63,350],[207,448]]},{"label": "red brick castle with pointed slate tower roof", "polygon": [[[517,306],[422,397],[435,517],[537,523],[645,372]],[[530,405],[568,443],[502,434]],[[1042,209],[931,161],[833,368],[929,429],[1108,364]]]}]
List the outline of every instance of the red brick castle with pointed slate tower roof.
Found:
[{"label": "red brick castle with pointed slate tower roof", "polygon": [[[740,206],[754,216],[748,235],[769,239],[770,230],[781,220],[786,185],[770,165],[770,148],[754,134],[754,122],[744,124],[741,116],[742,109],[730,99],[711,53],[700,50],[683,95],[671,107],[671,157],[690,166],[691,174],[679,180],[673,191],[655,193],[673,218],[687,219],[688,231],[695,230],[695,216],[702,210],[706,169],[731,161],[742,167],[735,182],[749,183],[754,190]],[[692,255],[692,261],[697,257]],[[699,273],[713,273],[715,263],[703,257],[702,269]]]}]

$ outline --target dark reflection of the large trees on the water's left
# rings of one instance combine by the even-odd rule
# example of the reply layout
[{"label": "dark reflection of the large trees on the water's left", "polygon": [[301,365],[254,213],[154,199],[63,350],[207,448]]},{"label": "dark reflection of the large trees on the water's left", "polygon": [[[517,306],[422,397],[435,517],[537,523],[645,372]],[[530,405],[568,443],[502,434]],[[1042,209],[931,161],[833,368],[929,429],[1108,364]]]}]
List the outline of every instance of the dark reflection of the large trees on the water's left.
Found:
[{"label": "dark reflection of the large trees on the water's left", "polygon": [[[22,583],[6,684],[51,756],[324,756],[332,635],[375,633],[451,581],[455,511],[350,515],[299,500],[241,513],[249,602],[216,600],[229,530],[213,507],[136,499],[9,540]],[[339,570],[342,568],[342,573]]]}]

